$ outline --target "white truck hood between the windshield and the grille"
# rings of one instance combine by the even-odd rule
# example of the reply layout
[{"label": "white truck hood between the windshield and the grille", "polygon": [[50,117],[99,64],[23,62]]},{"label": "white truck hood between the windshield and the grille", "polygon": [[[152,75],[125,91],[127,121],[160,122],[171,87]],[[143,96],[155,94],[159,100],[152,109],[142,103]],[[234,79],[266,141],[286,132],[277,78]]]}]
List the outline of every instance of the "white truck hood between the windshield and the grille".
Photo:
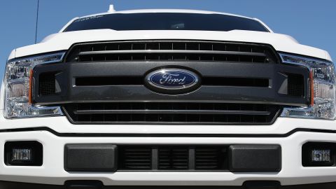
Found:
[{"label": "white truck hood between the windshield and the grille", "polygon": [[41,43],[28,45],[13,51],[9,59],[36,55],[44,52],[68,50],[73,43],[93,41],[123,41],[123,40],[205,40],[205,41],[235,41],[249,43],[265,43],[275,50],[328,59],[330,55],[325,50],[300,45],[291,36],[260,31],[115,31],[111,29],[95,29],[85,31],[69,31],[47,36]]}]

